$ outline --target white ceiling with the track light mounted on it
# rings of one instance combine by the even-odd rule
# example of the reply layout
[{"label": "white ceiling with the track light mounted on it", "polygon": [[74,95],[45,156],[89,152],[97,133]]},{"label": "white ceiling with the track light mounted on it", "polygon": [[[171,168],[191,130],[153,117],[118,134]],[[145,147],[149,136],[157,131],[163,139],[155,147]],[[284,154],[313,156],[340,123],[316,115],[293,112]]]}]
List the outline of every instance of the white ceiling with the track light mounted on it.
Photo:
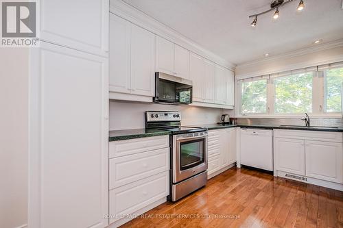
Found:
[{"label": "white ceiling with the track light mounted on it", "polygon": [[294,0],[276,21],[274,12],[259,16],[257,27],[248,16],[268,10],[272,0],[124,1],[233,64],[343,38],[342,0],[304,0],[302,12]]}]

